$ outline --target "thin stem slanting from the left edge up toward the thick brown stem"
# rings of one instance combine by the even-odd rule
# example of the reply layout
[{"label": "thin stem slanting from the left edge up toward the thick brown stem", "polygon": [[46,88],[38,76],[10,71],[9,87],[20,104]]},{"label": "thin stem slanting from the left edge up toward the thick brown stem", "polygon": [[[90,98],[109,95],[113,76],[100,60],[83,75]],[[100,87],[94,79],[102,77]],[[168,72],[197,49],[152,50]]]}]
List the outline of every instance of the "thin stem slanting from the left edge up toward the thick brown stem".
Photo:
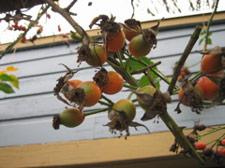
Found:
[{"label": "thin stem slanting from the left edge up toward the thick brown stem", "polygon": [[8,53],[10,50],[12,50],[13,47],[26,36],[27,32],[38,22],[38,20],[43,16],[43,14],[48,10],[48,8],[49,8],[49,6],[46,6],[42,10],[42,12],[37,15],[37,18],[34,21],[30,22],[30,24],[28,25],[27,29],[22,34],[20,34],[19,37],[14,42],[12,42],[3,52],[1,52],[0,59],[6,53]]}]

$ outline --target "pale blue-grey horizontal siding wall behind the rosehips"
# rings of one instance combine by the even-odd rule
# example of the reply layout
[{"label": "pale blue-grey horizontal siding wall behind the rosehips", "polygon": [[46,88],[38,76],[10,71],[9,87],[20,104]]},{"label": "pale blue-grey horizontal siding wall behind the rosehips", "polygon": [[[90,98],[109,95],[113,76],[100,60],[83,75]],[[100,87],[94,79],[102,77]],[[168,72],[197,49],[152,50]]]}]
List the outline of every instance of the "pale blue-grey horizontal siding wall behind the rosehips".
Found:
[{"label": "pale blue-grey horizontal siding wall behind the rosehips", "polygon": [[[178,61],[193,30],[194,27],[187,27],[159,33],[157,48],[152,50],[149,57],[154,62],[162,61],[158,68],[166,75],[172,74],[173,65]],[[225,24],[212,26],[210,30],[213,31],[211,37],[213,46],[224,46]],[[79,44],[72,44],[70,47],[62,45],[26,50],[8,54],[0,60],[1,67],[13,65],[19,68],[15,75],[20,78],[20,90],[15,94],[0,93],[0,146],[115,137],[103,126],[108,122],[107,113],[89,116],[81,126],[73,129],[61,126],[60,130],[55,131],[51,126],[52,116],[63,111],[66,106],[58,101],[52,92],[56,80],[65,73],[65,68],[58,64],[64,63],[70,68],[78,68],[76,63],[78,46]],[[197,42],[186,62],[192,72],[199,70],[201,55],[194,51],[201,49],[202,45],[199,46]],[[75,74],[76,78],[83,81],[92,80],[94,69],[85,63],[79,68],[86,69]],[[109,69],[108,66],[106,68]],[[165,83],[161,82],[161,85],[163,90],[167,89]],[[123,92],[110,97],[116,101],[126,96],[127,93]],[[177,97],[174,96],[173,99],[177,100]],[[184,106],[183,112],[176,114],[174,112],[176,104],[176,101],[169,104],[168,111],[180,126],[190,128],[199,120],[206,125],[225,123],[223,106],[205,109],[201,115],[197,115]],[[97,104],[87,110],[99,107]],[[142,115],[142,110],[138,108],[135,120],[140,121]],[[151,132],[167,130],[162,121],[156,124],[151,120],[144,124]],[[144,128],[139,128],[138,131],[131,128],[131,134],[143,133],[146,133]]]}]

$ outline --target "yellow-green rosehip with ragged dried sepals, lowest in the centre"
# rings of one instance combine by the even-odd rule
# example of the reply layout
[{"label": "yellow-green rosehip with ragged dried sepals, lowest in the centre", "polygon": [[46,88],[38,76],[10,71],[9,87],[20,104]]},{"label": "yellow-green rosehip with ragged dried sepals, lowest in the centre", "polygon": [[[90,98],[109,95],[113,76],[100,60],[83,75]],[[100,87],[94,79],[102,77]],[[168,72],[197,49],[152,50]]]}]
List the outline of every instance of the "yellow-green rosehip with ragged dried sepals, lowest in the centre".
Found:
[{"label": "yellow-green rosehip with ragged dried sepals, lowest in the centre", "polygon": [[105,126],[109,127],[111,133],[119,131],[120,136],[122,136],[122,132],[125,131],[125,138],[130,135],[129,127],[136,128],[142,126],[150,133],[145,125],[133,121],[135,115],[136,107],[133,102],[128,99],[121,99],[113,105],[111,110],[109,110],[108,118],[110,119],[110,122]]}]

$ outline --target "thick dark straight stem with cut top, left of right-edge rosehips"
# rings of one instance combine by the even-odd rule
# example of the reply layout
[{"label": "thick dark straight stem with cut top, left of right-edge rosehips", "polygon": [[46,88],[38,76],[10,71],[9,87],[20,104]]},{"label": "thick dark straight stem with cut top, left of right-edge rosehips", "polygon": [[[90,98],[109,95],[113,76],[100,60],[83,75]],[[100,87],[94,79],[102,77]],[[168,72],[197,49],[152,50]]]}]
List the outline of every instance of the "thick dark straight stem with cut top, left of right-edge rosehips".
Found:
[{"label": "thick dark straight stem with cut top, left of right-edge rosehips", "polygon": [[196,41],[198,40],[199,38],[199,35],[201,33],[201,30],[202,30],[202,27],[201,26],[196,26],[195,27],[195,30],[193,32],[193,34],[191,35],[191,38],[182,54],[182,56],[180,57],[180,60],[179,62],[176,64],[175,68],[174,68],[174,73],[173,73],[173,77],[172,77],[172,80],[171,80],[171,83],[168,87],[168,92],[170,93],[170,95],[173,94],[173,89],[175,87],[175,84],[176,84],[176,81],[177,81],[177,77],[179,76],[180,74],[180,70],[181,68],[183,67],[187,57],[189,56],[192,48],[194,47]]}]

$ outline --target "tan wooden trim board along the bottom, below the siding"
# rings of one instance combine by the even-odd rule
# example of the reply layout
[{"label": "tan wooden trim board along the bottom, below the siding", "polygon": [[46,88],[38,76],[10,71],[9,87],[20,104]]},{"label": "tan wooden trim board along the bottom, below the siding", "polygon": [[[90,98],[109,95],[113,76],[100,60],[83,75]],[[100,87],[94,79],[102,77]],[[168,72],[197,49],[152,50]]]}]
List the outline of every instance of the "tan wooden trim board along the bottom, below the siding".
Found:
[{"label": "tan wooden trim board along the bottom, below the siding", "polygon": [[[190,131],[185,130],[185,134]],[[221,136],[221,132],[206,136],[202,141],[209,142]],[[173,142],[170,132],[159,132],[129,136],[127,140],[121,137],[1,147],[0,167],[199,166],[195,159],[178,157],[170,152]]]}]

